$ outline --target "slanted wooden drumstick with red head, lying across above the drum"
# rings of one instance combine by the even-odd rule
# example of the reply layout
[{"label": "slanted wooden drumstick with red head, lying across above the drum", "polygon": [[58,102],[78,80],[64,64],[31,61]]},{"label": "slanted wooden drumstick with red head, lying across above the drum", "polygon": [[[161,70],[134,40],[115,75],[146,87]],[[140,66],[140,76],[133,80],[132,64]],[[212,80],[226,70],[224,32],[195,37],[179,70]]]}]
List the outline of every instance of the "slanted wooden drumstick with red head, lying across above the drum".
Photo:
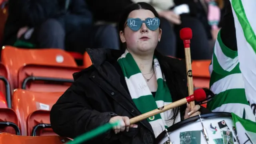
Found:
[{"label": "slanted wooden drumstick with red head, lying across above the drum", "polygon": [[130,124],[135,124],[136,122],[140,122],[141,120],[144,120],[146,118],[149,118],[150,116],[154,116],[156,114],[160,114],[162,112],[165,112],[167,110],[170,110],[172,108],[176,108],[178,106],[181,106],[183,104],[186,104],[187,102],[191,102],[191,101],[202,101],[206,99],[206,93],[204,92],[204,90],[202,88],[199,88],[197,90],[194,91],[194,94],[186,97],[186,98],[182,98],[181,100],[178,100],[176,102],[172,102],[171,104],[168,104],[166,106],[162,106],[160,108],[157,108],[155,110],[152,110],[150,112],[146,112],[144,114],[141,114],[139,116],[136,116],[134,118],[130,119]]}]

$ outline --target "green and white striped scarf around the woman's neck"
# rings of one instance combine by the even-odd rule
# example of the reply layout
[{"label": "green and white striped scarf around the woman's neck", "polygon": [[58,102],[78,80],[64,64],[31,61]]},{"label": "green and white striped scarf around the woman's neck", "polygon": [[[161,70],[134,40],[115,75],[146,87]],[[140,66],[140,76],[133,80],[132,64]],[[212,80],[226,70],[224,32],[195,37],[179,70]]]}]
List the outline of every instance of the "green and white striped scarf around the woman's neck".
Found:
[{"label": "green and white striped scarf around the woman's neck", "polygon": [[[172,102],[170,91],[165,80],[163,79],[163,74],[156,57],[154,57],[153,60],[154,71],[158,84],[155,97],[152,96],[144,76],[140,72],[138,65],[128,50],[126,50],[124,54],[118,58],[118,63],[120,64],[122,72],[124,73],[126,84],[132,100],[142,114]],[[173,120],[169,120],[172,116],[172,110],[168,110],[161,114],[147,118],[148,122],[152,126],[155,137],[163,132],[165,128],[172,125]],[[175,121],[179,120],[180,114],[177,116]]]}]

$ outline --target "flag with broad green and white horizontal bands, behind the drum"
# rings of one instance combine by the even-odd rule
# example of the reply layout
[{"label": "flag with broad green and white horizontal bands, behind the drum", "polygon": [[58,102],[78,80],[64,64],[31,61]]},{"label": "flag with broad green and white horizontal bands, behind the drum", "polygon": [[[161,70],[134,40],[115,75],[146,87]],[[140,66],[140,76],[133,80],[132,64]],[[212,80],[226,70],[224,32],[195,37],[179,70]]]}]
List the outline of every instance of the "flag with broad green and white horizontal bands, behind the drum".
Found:
[{"label": "flag with broad green and white horizontal bands, behind the drum", "polygon": [[[234,3],[240,4],[242,0],[231,1],[234,1],[232,3],[233,8]],[[234,12],[234,9],[232,9],[232,12]],[[242,39],[240,37],[244,38],[244,34],[236,35],[237,41]],[[213,112],[233,112],[241,118],[255,122],[256,118],[249,104],[249,102],[251,103],[253,100],[252,96],[246,93],[247,87],[244,84],[244,74],[240,70],[241,58],[239,57],[239,54],[240,53],[238,51],[231,50],[222,42],[222,38],[219,32],[214,46],[212,62],[209,66],[211,75],[210,90],[212,90],[216,96],[212,101],[208,102],[207,108]],[[244,60],[246,60],[246,58],[246,56],[243,57]],[[256,60],[254,65],[256,69]],[[248,68],[251,68],[252,66],[253,64],[251,66],[247,65]],[[254,84],[256,84],[256,80],[254,81]]]}]

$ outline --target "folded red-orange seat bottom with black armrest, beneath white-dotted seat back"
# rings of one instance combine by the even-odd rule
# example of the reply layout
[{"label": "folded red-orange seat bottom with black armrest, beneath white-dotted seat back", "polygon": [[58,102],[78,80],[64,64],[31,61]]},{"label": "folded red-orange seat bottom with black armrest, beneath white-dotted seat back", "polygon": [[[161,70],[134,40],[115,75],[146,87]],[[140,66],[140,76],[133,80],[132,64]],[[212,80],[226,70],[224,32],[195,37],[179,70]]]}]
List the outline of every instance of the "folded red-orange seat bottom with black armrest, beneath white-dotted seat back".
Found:
[{"label": "folded red-orange seat bottom with black armrest, beneath white-dotted seat back", "polygon": [[18,88],[38,92],[63,92],[74,81],[73,73],[82,69],[28,64],[18,72]]}]

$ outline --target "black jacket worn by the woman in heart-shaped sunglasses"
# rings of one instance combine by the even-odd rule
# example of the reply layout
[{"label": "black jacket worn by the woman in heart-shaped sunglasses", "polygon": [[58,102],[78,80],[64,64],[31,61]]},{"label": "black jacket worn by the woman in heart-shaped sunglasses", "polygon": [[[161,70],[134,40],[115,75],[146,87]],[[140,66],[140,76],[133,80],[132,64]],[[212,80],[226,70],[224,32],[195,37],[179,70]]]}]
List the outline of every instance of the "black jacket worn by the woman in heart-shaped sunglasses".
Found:
[{"label": "black jacket worn by the woman in heart-shaped sunglasses", "polygon": [[[87,52],[93,66],[74,74],[75,82],[51,110],[52,128],[60,136],[75,138],[106,124],[112,116],[133,118],[141,114],[127,91],[120,68],[118,70],[117,59],[122,52],[107,49],[87,49]],[[185,96],[185,62],[169,57],[165,59],[171,67],[174,83],[184,92],[180,95]],[[185,108],[180,109],[182,119]],[[129,132],[115,134],[110,130],[86,144],[153,144],[155,138],[149,122],[142,120],[137,124],[138,128],[130,128]]]}]

